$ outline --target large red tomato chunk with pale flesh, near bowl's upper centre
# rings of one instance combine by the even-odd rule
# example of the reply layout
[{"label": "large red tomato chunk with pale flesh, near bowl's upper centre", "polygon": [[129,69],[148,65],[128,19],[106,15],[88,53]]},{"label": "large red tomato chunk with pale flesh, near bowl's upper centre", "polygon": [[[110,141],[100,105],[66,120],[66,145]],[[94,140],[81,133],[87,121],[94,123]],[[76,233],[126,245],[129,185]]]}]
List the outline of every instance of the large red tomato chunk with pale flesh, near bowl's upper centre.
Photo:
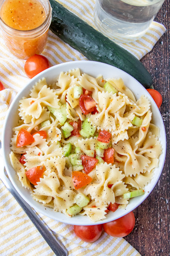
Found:
[{"label": "large red tomato chunk with pale flesh, near bowl's upper centre", "polygon": [[79,105],[83,114],[87,115],[94,111],[96,102],[89,95],[81,95],[79,99]]}]

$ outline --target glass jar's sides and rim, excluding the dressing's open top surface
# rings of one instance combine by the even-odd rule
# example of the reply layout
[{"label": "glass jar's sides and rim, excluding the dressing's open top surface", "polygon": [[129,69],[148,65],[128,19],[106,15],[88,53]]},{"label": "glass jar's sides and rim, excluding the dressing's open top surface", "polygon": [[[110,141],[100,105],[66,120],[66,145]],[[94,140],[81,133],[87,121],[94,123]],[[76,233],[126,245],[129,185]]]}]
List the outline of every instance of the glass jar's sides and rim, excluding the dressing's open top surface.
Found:
[{"label": "glass jar's sides and rim, excluding the dressing's open top surface", "polygon": [[28,59],[34,54],[41,54],[47,42],[47,35],[52,18],[52,8],[48,0],[38,0],[45,10],[46,18],[44,22],[31,30],[18,30],[8,26],[2,20],[2,5],[0,5],[0,28],[6,45],[10,52],[17,58]]}]

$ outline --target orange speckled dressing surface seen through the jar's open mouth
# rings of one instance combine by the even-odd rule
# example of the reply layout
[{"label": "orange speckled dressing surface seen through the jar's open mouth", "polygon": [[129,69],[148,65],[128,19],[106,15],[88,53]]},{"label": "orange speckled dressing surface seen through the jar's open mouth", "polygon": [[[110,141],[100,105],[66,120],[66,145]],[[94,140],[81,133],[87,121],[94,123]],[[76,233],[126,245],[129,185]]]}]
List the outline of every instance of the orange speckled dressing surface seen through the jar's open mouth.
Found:
[{"label": "orange speckled dressing surface seen through the jar's open mouth", "polygon": [[30,30],[40,26],[46,14],[37,0],[8,0],[2,5],[1,18],[12,28]]}]

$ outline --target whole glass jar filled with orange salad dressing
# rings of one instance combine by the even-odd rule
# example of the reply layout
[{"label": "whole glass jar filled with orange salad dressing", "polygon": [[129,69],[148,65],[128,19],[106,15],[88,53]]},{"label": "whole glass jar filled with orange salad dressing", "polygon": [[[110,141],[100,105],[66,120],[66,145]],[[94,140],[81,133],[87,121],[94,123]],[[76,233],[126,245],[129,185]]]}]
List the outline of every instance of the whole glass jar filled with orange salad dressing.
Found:
[{"label": "whole glass jar filled with orange salad dressing", "polygon": [[27,59],[41,54],[51,23],[48,0],[4,0],[0,6],[0,26],[10,52]]}]

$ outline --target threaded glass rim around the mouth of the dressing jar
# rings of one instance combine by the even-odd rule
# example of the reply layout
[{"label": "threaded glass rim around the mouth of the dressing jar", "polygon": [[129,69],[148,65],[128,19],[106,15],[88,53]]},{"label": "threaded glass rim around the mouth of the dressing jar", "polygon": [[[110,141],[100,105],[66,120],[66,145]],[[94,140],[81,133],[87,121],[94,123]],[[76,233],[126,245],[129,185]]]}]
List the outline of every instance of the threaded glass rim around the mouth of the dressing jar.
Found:
[{"label": "threaded glass rim around the mouth of the dressing jar", "polygon": [[[4,0],[4,1],[6,1],[6,0]],[[1,9],[2,4],[3,4],[4,1],[2,1],[1,5],[0,5],[0,9]],[[23,33],[23,34],[27,34],[27,33],[34,32],[34,31],[36,31],[36,30],[39,30],[45,23],[48,22],[48,20],[49,20],[49,18],[50,18],[50,16],[51,16],[51,10],[52,10],[51,4],[50,4],[49,0],[47,0],[47,2],[48,2],[48,13],[47,13],[47,16],[46,16],[45,20],[43,21],[43,23],[42,23],[40,26],[36,27],[36,28],[32,28],[32,29],[30,29],[30,30],[20,30],[20,29],[12,28],[12,27],[10,27],[8,24],[6,24],[6,23],[4,22],[4,20],[2,20],[1,16],[0,16],[0,21],[1,21],[6,27],[8,27],[8,29],[13,30],[13,31],[15,31],[15,32]]]}]

